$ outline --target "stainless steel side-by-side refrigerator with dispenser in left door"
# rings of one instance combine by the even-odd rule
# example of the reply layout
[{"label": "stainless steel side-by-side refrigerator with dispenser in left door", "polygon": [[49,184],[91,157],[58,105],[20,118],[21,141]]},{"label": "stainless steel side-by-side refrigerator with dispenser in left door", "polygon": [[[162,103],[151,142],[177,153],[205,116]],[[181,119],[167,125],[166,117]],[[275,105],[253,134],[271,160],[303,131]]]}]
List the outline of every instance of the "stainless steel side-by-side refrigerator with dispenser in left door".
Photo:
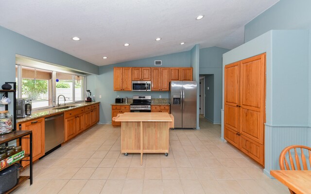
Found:
[{"label": "stainless steel side-by-side refrigerator with dispenser in left door", "polygon": [[196,128],[196,81],[171,81],[169,102],[174,128]]}]

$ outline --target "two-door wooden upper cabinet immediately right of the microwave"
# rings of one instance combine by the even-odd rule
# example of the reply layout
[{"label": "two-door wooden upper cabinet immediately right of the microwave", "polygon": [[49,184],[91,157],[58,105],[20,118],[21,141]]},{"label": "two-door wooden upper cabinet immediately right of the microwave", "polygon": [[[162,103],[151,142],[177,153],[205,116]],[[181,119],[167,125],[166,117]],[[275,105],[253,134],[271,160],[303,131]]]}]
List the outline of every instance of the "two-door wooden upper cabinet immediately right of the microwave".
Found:
[{"label": "two-door wooden upper cabinet immediately right of the microwave", "polygon": [[151,91],[169,91],[170,68],[151,68]]}]

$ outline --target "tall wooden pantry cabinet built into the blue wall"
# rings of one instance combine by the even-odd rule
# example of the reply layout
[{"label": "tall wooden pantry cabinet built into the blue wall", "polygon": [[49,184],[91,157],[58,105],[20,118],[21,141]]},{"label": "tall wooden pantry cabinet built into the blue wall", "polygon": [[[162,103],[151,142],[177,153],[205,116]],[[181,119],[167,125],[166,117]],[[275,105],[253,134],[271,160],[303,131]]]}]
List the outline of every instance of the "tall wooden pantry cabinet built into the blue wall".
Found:
[{"label": "tall wooden pantry cabinet built into the blue wall", "polygon": [[225,140],[264,166],[266,54],[225,65]]}]

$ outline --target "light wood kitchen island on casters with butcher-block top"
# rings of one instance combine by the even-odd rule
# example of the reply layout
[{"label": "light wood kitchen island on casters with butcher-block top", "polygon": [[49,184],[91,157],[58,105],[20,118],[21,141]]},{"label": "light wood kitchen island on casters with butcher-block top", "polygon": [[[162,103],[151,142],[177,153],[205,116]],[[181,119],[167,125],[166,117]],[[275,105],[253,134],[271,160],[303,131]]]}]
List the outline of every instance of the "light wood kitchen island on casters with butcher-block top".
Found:
[{"label": "light wood kitchen island on casters with butcher-block top", "polygon": [[123,113],[113,117],[121,122],[121,153],[169,153],[169,129],[174,117],[169,113]]}]

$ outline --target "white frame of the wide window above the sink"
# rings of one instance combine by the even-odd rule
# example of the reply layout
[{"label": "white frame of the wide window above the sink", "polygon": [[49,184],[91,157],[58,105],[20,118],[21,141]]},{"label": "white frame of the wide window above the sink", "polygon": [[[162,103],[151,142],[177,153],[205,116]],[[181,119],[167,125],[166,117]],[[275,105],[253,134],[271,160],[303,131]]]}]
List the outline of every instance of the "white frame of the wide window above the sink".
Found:
[{"label": "white frame of the wide window above the sink", "polygon": [[[29,67],[29,68],[34,68],[34,69],[39,69],[39,70],[49,70],[49,69],[43,69],[43,68],[38,68],[32,65],[19,65],[16,64],[17,66],[17,83],[21,83],[22,82],[22,67]],[[70,71],[63,71],[63,70],[49,70],[52,71],[52,105],[50,106],[44,106],[44,107],[38,107],[33,109],[33,111],[35,110],[41,110],[41,109],[47,109],[47,108],[52,108],[52,107],[56,107],[57,106],[57,97],[56,97],[56,73],[67,73],[70,74],[72,76],[72,102],[66,103],[66,104],[74,104],[74,103],[79,103],[79,102],[84,102],[85,100],[85,92],[84,90],[86,90],[86,75],[84,74],[79,74],[79,73],[73,73]],[[80,76],[84,78],[84,82],[83,85],[81,85],[82,88],[82,100],[75,100],[75,76]],[[21,84],[17,85],[17,98],[21,98],[22,97],[22,86]],[[49,99],[50,100],[50,99]]]}]

